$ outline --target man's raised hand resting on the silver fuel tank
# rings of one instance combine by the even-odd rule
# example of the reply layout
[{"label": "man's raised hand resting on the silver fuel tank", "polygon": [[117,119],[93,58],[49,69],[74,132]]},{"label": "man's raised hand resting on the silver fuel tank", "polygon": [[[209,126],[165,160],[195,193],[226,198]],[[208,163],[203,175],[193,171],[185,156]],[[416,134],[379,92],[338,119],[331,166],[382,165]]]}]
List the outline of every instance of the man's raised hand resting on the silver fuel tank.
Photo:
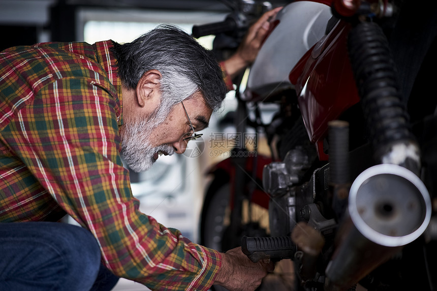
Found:
[{"label": "man's raised hand resting on the silver fuel tank", "polygon": [[231,79],[242,69],[245,69],[254,62],[270,28],[270,21],[275,18],[276,14],[281,9],[282,7],[278,7],[267,11],[257,20],[257,22],[249,27],[243,42],[240,44],[235,54],[225,61],[226,72]]}]

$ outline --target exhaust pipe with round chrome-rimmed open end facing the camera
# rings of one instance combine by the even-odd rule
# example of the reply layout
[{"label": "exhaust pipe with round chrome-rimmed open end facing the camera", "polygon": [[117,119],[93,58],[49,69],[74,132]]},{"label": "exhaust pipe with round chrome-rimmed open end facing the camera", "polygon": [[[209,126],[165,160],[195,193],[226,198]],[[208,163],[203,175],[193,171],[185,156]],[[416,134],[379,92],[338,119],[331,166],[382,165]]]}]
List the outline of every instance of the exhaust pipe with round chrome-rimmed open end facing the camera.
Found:
[{"label": "exhaust pipe with round chrome-rimmed open end facing the camera", "polygon": [[326,290],[347,290],[421,236],[431,218],[423,182],[394,164],[373,166],[354,181],[348,214],[325,273]]}]

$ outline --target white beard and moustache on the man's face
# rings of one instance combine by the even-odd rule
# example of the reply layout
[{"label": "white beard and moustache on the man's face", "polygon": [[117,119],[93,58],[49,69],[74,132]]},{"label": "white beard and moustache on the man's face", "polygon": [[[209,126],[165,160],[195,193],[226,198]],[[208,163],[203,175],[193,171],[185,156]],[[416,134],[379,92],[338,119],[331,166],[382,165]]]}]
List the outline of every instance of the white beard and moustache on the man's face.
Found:
[{"label": "white beard and moustache on the man's face", "polygon": [[[126,120],[126,119],[125,119]],[[140,173],[149,170],[156,161],[153,155],[159,151],[173,154],[172,146],[163,144],[152,147],[148,140],[152,130],[160,122],[156,123],[150,120],[131,121],[126,120],[123,129],[120,131],[121,136],[121,157],[125,163],[134,172]]]}]

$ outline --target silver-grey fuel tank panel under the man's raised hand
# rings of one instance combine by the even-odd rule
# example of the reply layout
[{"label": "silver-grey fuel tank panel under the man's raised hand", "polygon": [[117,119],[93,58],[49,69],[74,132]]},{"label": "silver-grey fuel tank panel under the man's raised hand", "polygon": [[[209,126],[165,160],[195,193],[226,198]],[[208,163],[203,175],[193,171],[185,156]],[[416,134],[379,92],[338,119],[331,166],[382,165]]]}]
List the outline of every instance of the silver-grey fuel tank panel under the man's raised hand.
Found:
[{"label": "silver-grey fuel tank panel under the man's raised hand", "polygon": [[294,88],[289,74],[299,59],[324,35],[332,17],[329,6],[298,1],[285,6],[276,16],[273,29],[258,53],[249,72],[244,100],[253,93],[263,98],[269,94]]}]

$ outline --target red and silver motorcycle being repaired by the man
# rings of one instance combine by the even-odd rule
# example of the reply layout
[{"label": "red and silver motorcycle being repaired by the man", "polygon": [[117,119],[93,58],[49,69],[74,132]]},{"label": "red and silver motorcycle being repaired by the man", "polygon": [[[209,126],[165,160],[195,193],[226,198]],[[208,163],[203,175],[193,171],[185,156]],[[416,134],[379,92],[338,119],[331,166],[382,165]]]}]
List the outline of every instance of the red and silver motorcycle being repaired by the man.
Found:
[{"label": "red and silver motorcycle being repaired by the man", "polygon": [[[247,19],[269,9],[240,4],[197,37],[234,49]],[[265,133],[271,156],[235,154],[210,172],[201,243],[291,259],[289,290],[436,289],[436,35],[431,1],[287,4],[236,90],[237,132]],[[257,105],[268,103],[279,110],[264,124]],[[268,227],[242,220],[244,201],[265,209]]]}]

